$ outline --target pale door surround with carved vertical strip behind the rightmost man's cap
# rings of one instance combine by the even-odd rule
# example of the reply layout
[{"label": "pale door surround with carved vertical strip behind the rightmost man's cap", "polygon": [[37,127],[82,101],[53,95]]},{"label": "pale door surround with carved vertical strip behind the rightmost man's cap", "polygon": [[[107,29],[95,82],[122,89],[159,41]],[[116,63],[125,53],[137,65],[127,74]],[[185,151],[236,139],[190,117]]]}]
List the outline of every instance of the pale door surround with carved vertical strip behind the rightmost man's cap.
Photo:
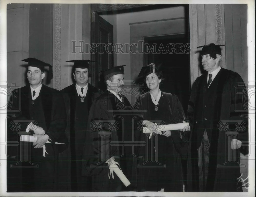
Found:
[{"label": "pale door surround with carved vertical strip behind the rightmost man's cap", "polygon": [[[202,74],[200,49],[210,43],[225,44],[225,21],[223,4],[190,4],[190,84]],[[225,46],[222,48],[220,66],[226,68]]]}]

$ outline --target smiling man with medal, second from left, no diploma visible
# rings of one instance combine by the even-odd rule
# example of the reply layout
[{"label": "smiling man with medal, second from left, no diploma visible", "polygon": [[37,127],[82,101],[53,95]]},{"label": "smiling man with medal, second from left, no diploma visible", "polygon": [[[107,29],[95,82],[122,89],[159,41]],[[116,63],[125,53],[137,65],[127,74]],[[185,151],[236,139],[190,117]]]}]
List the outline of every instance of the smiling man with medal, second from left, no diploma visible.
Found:
[{"label": "smiling man with medal, second from left, no diploma visible", "polygon": [[70,141],[70,147],[63,152],[63,155],[68,158],[67,161],[70,161],[68,164],[66,163],[70,172],[67,172],[64,176],[68,176],[69,180],[70,174],[71,184],[68,187],[71,188],[67,188],[68,191],[71,189],[73,192],[89,192],[91,180],[82,177],[81,161],[89,110],[93,99],[99,94],[97,88],[88,83],[90,77],[88,69],[91,61],[71,60],[67,62],[74,63],[72,73],[75,83],[61,90],[67,113],[67,128],[65,132]]}]

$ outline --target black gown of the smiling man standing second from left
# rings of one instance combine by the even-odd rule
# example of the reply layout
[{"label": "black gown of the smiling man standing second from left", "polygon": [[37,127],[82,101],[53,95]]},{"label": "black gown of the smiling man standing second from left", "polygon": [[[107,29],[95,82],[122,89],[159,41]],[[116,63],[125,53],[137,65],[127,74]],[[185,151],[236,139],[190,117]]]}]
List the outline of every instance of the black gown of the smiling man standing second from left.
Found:
[{"label": "black gown of the smiling man standing second from left", "polygon": [[65,180],[67,184],[62,189],[64,189],[64,191],[89,192],[91,190],[91,180],[82,177],[81,160],[88,113],[93,100],[100,94],[98,93],[98,89],[89,83],[84,102],[81,102],[81,96],[77,94],[76,84],[62,89],[61,93],[64,98],[67,113],[67,127],[65,133],[70,142],[68,149],[62,153],[63,158],[66,158],[62,163],[63,168],[70,169],[63,173],[62,182]]}]

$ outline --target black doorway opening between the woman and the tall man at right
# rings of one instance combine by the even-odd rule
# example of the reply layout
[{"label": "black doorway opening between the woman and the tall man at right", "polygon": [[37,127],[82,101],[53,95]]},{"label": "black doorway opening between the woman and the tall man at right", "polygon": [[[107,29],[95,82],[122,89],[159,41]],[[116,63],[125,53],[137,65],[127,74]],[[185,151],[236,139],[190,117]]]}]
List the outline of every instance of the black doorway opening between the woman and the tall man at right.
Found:
[{"label": "black doorway opening between the woman and the tall man at right", "polygon": [[[146,47],[154,51],[144,54],[145,65],[160,65],[164,81],[160,85],[163,92],[178,96],[183,109],[188,108],[190,95],[189,37],[187,34],[145,37]],[[186,113],[186,111],[185,111]]]}]

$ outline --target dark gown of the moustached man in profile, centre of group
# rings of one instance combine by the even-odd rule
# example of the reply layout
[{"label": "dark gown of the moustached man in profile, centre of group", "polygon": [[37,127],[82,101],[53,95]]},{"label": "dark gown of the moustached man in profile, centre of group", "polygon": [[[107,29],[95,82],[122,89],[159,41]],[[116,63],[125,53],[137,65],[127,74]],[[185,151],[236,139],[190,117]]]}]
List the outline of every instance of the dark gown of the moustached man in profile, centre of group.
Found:
[{"label": "dark gown of the moustached man in profile, centre of group", "polygon": [[[120,145],[120,142],[132,141],[131,104],[122,97],[123,103],[107,90],[94,100],[89,113],[83,174],[92,176],[93,191],[132,191],[134,187],[132,149]],[[129,188],[125,188],[115,174],[114,179],[109,180],[109,166],[104,161],[112,156],[131,182]]]}]

